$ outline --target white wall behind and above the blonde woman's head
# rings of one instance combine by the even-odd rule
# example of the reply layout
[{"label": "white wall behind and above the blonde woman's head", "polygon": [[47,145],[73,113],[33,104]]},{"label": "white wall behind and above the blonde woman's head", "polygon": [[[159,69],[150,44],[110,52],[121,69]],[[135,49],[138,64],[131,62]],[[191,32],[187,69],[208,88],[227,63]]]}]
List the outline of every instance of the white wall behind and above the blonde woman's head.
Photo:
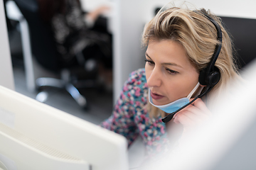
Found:
[{"label": "white wall behind and above the blonde woman's head", "polygon": [[[144,67],[144,50],[140,48],[140,36],[144,23],[154,15],[156,6],[164,6],[167,0],[115,0],[114,31],[114,101],[119,97],[129,73]],[[183,1],[176,0],[175,4]],[[210,9],[220,16],[256,18],[255,0],[189,0],[197,8]]]}]

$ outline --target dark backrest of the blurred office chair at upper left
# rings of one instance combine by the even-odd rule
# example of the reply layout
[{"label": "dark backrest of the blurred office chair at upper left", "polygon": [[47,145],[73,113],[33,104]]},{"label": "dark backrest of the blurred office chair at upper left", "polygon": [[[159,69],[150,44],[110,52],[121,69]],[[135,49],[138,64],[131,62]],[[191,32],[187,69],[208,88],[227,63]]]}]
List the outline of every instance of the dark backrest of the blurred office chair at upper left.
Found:
[{"label": "dark backrest of the blurred office chair at upper left", "polygon": [[33,57],[46,69],[57,72],[60,69],[58,53],[50,24],[43,22],[36,0],[14,0],[28,22]]}]

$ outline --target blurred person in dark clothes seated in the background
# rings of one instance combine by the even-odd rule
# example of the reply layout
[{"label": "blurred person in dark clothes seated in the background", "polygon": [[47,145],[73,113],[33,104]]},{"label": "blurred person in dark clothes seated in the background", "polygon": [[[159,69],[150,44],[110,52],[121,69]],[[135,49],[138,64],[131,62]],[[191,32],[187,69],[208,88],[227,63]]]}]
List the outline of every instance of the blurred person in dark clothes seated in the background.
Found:
[{"label": "blurred person in dark clothes seated in the background", "polygon": [[96,60],[100,77],[106,79],[107,75],[110,77],[107,83],[111,84],[112,35],[107,30],[107,18],[102,16],[110,7],[100,6],[85,12],[79,0],[38,0],[38,6],[41,18],[53,30],[63,62],[67,66],[95,65],[87,61]]}]

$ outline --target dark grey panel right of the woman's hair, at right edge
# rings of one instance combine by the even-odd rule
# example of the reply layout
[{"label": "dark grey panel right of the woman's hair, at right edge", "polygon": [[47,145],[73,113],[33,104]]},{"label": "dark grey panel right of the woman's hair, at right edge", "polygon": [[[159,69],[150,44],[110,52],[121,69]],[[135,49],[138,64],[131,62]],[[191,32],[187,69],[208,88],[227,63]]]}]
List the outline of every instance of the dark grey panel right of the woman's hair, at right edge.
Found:
[{"label": "dark grey panel right of the woman's hair, at right edge", "polygon": [[256,19],[223,17],[232,36],[241,69],[256,58]]}]

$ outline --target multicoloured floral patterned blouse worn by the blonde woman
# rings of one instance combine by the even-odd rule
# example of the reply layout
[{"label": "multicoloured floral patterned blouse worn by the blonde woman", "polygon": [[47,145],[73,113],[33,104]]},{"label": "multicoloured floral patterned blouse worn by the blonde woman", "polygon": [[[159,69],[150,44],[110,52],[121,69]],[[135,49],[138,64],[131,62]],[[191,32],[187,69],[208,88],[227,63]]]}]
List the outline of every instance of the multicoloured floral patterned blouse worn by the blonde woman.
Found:
[{"label": "multicoloured floral patterned blouse worn by the blonde woman", "polygon": [[126,137],[129,145],[141,136],[148,156],[154,156],[167,150],[169,139],[161,115],[149,118],[146,103],[148,86],[145,70],[138,69],[129,75],[112,115],[101,126]]}]

